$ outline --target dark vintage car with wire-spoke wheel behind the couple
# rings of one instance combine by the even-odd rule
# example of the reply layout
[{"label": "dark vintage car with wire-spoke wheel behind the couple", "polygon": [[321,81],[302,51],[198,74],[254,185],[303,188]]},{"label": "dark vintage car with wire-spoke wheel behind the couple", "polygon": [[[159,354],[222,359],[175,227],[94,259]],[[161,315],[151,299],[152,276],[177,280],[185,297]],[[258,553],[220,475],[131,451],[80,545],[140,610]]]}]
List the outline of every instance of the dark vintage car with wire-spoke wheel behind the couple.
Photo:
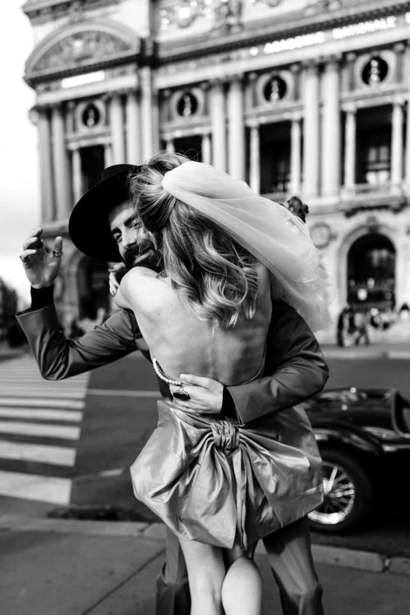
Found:
[{"label": "dark vintage car with wire-spoke wheel behind the couple", "polygon": [[323,459],[312,530],[355,531],[410,490],[410,403],[394,389],[326,390],[304,402]]}]

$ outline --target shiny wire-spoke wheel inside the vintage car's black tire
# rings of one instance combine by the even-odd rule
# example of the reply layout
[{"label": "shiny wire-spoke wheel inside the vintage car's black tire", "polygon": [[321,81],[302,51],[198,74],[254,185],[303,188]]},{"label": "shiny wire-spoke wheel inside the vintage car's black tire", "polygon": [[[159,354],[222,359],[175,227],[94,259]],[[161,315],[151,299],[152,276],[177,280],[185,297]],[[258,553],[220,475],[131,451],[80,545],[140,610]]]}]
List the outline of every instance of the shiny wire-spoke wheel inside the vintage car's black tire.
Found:
[{"label": "shiny wire-spoke wheel inside the vintage car's black tire", "polygon": [[352,478],[344,468],[323,462],[323,504],[309,514],[312,521],[335,525],[351,514],[356,490]]}]

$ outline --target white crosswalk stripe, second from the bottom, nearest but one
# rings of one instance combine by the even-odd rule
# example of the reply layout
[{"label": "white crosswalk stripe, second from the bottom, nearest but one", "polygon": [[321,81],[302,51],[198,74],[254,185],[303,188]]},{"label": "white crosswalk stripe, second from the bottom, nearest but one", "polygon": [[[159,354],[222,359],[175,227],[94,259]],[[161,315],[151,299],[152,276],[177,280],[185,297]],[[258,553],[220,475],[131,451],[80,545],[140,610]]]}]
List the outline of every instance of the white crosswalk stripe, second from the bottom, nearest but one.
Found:
[{"label": "white crosswalk stripe, second from the bottom, nearest but one", "polygon": [[76,463],[76,450],[63,446],[2,442],[0,440],[0,459],[36,461],[55,466],[73,467]]}]

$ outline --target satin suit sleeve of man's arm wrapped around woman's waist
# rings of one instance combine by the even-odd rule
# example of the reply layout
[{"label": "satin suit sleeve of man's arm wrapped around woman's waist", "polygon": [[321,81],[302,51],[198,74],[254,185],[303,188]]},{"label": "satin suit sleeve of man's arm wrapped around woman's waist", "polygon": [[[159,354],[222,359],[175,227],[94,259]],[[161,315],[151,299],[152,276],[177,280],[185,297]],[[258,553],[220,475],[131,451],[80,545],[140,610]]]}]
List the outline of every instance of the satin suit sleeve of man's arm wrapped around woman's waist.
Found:
[{"label": "satin suit sleeve of man's arm wrapped around woman's waist", "polygon": [[304,319],[288,304],[274,301],[264,376],[227,389],[243,424],[309,399],[328,377],[323,352]]}]

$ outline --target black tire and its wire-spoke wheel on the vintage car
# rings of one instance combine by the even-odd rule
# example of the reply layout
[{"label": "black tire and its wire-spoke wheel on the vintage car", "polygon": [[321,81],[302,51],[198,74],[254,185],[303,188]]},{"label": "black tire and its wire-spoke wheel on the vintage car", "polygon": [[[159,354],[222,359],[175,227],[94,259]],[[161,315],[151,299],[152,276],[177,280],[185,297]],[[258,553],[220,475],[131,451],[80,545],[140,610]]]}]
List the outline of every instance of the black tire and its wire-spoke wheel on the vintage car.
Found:
[{"label": "black tire and its wire-spoke wheel on the vintage car", "polygon": [[309,513],[312,530],[342,534],[360,528],[374,504],[374,488],[356,456],[339,450],[321,450],[323,504]]}]

